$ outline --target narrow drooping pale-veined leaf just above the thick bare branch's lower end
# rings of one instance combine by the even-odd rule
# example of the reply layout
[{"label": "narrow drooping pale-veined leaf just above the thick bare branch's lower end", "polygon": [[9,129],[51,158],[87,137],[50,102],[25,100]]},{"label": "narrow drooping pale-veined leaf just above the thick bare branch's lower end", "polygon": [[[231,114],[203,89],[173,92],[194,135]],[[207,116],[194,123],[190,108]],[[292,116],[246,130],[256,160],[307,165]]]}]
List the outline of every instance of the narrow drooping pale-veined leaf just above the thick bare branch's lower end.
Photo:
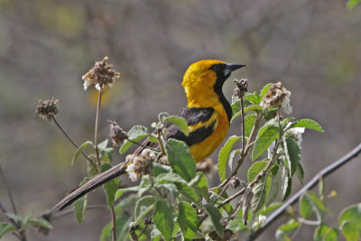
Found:
[{"label": "narrow drooping pale-veined leaf just above the thick bare branch's lower end", "polygon": [[271,190],[271,183],[271,177],[263,177],[252,189],[254,196],[251,200],[251,207],[254,213],[258,212],[264,207],[267,194]]}]

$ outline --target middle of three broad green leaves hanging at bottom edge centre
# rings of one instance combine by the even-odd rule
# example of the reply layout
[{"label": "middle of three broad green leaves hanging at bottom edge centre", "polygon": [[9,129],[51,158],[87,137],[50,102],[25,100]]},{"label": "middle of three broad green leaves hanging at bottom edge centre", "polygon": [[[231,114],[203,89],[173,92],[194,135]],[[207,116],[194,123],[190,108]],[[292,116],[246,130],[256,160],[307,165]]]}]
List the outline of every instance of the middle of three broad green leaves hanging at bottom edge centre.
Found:
[{"label": "middle of three broad green leaves hanging at bottom edge centre", "polygon": [[178,223],[184,238],[193,239],[198,227],[198,215],[188,202],[180,202]]}]

